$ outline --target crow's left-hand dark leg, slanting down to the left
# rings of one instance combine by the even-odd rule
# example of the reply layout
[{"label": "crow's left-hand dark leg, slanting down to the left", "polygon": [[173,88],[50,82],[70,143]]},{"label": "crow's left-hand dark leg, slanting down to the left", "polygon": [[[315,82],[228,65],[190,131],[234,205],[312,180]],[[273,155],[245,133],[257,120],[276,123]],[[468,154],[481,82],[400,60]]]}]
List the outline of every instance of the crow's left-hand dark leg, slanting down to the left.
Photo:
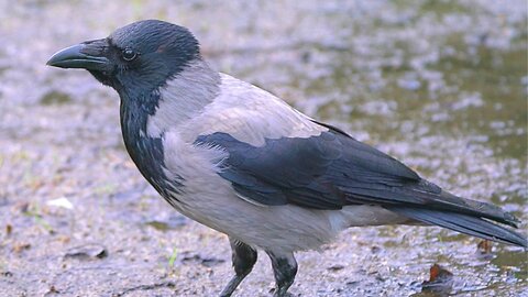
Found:
[{"label": "crow's left-hand dark leg, slanting down to the left", "polygon": [[222,293],[220,293],[221,297],[231,296],[242,279],[250,274],[253,265],[256,262],[256,251],[250,245],[232,238],[229,238],[229,242],[231,243],[235,275],[231,278],[231,280],[229,280],[229,284],[226,286]]}]

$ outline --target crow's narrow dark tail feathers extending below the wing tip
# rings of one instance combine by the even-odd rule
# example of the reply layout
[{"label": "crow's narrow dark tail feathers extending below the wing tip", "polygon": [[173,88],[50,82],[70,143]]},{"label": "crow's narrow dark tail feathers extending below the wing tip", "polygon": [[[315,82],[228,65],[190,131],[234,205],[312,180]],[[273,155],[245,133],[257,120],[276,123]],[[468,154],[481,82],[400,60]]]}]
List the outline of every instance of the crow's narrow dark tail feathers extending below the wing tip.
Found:
[{"label": "crow's narrow dark tail feathers extending below the wing tip", "polygon": [[492,223],[481,217],[409,207],[388,207],[387,209],[417,221],[437,224],[469,235],[528,248],[526,238],[519,233]]}]

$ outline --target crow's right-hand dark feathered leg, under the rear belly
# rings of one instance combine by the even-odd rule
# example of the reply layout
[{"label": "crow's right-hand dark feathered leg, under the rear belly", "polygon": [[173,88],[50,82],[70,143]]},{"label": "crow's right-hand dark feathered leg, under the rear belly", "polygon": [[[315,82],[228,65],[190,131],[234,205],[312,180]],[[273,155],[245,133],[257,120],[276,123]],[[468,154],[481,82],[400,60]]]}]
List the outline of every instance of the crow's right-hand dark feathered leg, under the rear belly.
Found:
[{"label": "crow's right-hand dark feathered leg, under the rear belly", "polygon": [[294,253],[276,254],[267,252],[267,255],[272,260],[273,273],[275,274],[276,286],[273,296],[288,296],[288,288],[294,284],[297,274],[297,261],[295,261]]}]

